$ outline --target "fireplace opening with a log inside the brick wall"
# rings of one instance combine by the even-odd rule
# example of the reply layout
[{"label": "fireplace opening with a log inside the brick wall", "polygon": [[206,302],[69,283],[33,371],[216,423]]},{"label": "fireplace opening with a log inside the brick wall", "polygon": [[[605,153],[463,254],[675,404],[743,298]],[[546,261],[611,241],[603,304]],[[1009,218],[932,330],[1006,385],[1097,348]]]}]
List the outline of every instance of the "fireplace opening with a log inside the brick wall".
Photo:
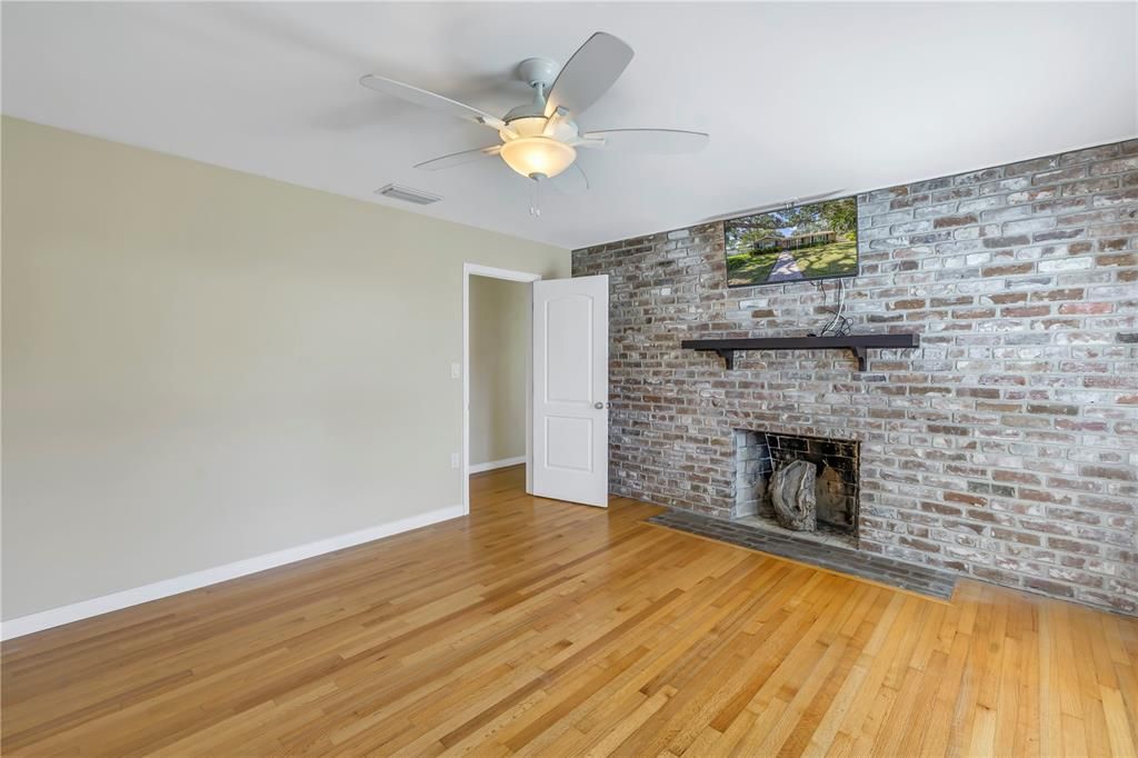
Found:
[{"label": "fireplace opening with a log inside the brick wall", "polygon": [[[856,545],[859,448],[860,443],[852,439],[736,429],[734,518],[807,539]],[[805,463],[791,467],[800,461]],[[805,471],[813,476],[807,484],[813,484],[814,522],[805,528],[801,524],[790,528],[785,518],[780,522],[776,505],[784,504],[786,496],[783,503],[776,502],[772,483],[781,469],[786,469],[784,475]]]}]

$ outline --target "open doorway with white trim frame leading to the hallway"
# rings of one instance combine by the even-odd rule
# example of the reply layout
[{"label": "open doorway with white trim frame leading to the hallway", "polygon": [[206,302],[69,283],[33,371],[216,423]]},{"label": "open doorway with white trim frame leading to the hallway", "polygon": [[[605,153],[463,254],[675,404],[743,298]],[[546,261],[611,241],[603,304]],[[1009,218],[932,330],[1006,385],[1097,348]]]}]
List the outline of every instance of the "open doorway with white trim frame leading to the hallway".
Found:
[{"label": "open doorway with white trim frame leading to the hallway", "polygon": [[463,264],[462,508],[470,477],[526,467],[531,492],[531,308],[539,274]]}]

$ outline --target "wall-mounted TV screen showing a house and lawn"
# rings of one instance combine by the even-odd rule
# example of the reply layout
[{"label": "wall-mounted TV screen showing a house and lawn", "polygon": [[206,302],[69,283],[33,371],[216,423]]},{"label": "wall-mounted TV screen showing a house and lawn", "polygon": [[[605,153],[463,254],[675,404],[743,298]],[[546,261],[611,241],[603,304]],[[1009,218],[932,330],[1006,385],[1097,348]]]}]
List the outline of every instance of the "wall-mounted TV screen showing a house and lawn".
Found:
[{"label": "wall-mounted TV screen showing a house and lawn", "polygon": [[727,286],[857,275],[857,198],[768,211],[724,222]]}]

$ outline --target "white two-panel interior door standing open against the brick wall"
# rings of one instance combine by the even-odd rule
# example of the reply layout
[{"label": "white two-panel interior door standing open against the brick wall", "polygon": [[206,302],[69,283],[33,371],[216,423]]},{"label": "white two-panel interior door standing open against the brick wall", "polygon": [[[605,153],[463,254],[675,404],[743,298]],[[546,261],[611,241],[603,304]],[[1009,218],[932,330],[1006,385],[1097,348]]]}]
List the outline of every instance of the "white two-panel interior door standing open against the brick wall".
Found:
[{"label": "white two-panel interior door standing open against the brick wall", "polygon": [[609,277],[534,282],[533,492],[609,504]]}]

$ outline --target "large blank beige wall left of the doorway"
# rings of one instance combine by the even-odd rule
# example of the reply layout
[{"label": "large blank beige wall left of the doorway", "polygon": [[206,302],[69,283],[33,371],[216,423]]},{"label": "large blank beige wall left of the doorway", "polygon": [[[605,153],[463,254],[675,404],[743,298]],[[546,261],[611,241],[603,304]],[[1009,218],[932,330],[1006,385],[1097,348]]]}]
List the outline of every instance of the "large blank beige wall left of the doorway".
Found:
[{"label": "large blank beige wall left of the doorway", "polygon": [[2,618],[459,504],[462,264],[568,250],[0,137]]}]

